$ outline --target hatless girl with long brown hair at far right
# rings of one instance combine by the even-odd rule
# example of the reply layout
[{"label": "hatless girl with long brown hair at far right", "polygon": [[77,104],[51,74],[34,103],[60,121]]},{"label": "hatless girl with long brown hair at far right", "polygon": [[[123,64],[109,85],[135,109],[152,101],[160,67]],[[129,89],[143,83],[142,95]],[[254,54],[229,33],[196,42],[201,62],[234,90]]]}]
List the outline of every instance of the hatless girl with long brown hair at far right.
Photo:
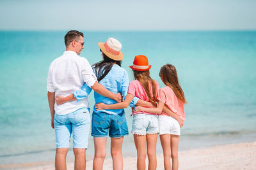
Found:
[{"label": "hatless girl with long brown hair at far right", "polygon": [[[177,71],[172,64],[161,67],[159,76],[166,87],[159,90],[157,108],[136,107],[136,111],[147,111],[159,115],[159,135],[164,155],[164,169],[171,169],[170,158],[172,157],[172,170],[179,167],[178,148],[180,127],[185,120],[184,92],[179,85]],[[164,105],[169,109],[164,109]],[[170,117],[170,110],[175,113],[175,118]],[[166,111],[166,112],[165,112]],[[176,119],[176,120],[175,120]]]}]

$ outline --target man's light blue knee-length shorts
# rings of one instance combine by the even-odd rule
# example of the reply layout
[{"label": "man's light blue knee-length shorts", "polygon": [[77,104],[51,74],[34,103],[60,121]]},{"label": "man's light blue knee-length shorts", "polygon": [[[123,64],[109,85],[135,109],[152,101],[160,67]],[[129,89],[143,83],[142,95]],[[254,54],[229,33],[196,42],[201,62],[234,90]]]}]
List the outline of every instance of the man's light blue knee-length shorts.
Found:
[{"label": "man's light blue knee-length shorts", "polygon": [[55,114],[56,148],[69,148],[71,133],[73,133],[73,148],[87,148],[90,123],[88,108],[81,108],[67,115]]}]

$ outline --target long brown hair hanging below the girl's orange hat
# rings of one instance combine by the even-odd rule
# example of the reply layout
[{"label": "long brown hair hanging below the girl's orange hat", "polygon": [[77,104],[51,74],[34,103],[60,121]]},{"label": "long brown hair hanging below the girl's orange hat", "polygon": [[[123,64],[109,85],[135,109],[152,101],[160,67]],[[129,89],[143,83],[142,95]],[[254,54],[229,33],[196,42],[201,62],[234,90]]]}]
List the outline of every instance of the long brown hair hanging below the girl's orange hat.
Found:
[{"label": "long brown hair hanging below the girl's orange hat", "polygon": [[[153,104],[154,106],[156,106],[156,102],[157,102],[156,83],[150,77],[149,70],[147,70],[147,71],[136,71],[136,70],[132,69],[132,71],[133,71],[133,75],[134,75],[135,80],[140,81],[141,85],[145,89],[145,92],[148,96],[149,102],[151,104]],[[149,83],[152,84],[152,94],[153,94],[153,96],[150,95]]]}]

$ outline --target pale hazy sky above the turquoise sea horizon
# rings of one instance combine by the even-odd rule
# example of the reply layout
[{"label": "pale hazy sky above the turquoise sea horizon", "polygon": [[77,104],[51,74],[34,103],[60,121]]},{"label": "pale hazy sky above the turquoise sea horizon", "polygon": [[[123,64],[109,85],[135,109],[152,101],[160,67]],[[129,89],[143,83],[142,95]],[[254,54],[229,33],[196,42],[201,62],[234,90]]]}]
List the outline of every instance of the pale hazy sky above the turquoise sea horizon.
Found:
[{"label": "pale hazy sky above the turquoise sea horizon", "polygon": [[0,0],[0,30],[256,30],[255,0]]}]

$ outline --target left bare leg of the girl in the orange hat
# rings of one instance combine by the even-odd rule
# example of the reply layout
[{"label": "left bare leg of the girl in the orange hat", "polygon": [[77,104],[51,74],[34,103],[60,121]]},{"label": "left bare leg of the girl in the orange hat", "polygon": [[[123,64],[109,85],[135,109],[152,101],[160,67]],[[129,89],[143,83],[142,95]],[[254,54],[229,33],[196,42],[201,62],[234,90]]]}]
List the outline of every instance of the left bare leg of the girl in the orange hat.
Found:
[{"label": "left bare leg of the girl in the orange hat", "polygon": [[147,157],[147,143],[145,135],[133,135],[134,143],[137,150],[137,169],[145,170],[146,168],[146,157]]}]

